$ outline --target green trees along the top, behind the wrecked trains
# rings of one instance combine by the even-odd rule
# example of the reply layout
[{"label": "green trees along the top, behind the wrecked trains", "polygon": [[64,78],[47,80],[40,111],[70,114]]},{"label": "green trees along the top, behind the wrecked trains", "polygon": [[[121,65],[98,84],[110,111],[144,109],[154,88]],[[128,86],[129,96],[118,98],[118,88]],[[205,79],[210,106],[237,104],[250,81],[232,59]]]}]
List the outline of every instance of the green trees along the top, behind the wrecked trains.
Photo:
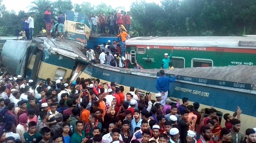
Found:
[{"label": "green trees along the top, behind the wrecked trains", "polygon": [[[45,27],[44,12],[51,6],[52,19],[59,11],[75,10],[87,16],[89,13],[125,10],[120,6],[91,2],[72,4],[72,0],[35,0],[29,13],[6,11],[1,4],[0,36],[14,35],[16,26],[24,28],[21,19],[34,12],[35,34]],[[256,0],[162,0],[161,6],[147,0],[137,0],[130,7],[132,25],[140,36],[242,36],[256,32]]]}]

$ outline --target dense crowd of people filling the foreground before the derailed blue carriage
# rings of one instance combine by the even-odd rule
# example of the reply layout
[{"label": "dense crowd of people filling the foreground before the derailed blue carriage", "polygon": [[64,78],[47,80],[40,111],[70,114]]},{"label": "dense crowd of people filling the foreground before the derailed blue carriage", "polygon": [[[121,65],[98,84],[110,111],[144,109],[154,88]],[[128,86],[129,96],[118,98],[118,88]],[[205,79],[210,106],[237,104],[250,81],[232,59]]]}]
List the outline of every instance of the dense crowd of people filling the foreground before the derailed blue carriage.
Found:
[{"label": "dense crowd of people filling the foreground before the derailed blue carriage", "polygon": [[240,107],[223,116],[222,128],[216,109],[202,117],[198,102],[167,98],[177,75],[160,74],[159,93],[151,94],[80,77],[35,83],[0,70],[0,143],[256,142],[256,128],[248,128],[245,137],[240,132]]}]

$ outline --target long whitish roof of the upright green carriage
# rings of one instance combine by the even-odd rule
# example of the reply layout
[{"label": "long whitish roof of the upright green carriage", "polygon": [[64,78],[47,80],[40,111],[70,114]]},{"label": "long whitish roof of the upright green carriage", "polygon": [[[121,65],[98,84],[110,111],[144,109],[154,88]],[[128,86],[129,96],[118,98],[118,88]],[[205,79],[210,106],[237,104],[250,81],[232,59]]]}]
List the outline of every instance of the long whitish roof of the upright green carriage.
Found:
[{"label": "long whitish roof of the upright green carriage", "polygon": [[[239,43],[242,41],[242,44]],[[244,43],[247,42],[247,43]],[[251,42],[251,43],[248,43]],[[253,43],[252,43],[253,42]],[[249,44],[249,45],[246,45]],[[126,45],[228,47],[256,49],[256,36],[201,36],[201,37],[136,37],[126,40]]]}]

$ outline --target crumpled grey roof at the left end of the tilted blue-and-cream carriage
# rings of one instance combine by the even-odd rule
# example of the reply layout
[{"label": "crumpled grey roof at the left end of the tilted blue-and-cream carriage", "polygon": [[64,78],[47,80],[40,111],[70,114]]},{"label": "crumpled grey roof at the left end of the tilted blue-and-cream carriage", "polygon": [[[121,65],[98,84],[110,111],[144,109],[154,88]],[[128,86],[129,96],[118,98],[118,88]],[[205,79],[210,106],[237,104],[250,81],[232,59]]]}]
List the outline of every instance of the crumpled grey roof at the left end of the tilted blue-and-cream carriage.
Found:
[{"label": "crumpled grey roof at the left end of the tilted blue-and-cream carriage", "polygon": [[35,43],[40,50],[50,49],[50,52],[53,54],[58,53],[73,59],[87,61],[86,56],[81,52],[84,45],[76,41],[39,37],[32,39],[32,43]]}]

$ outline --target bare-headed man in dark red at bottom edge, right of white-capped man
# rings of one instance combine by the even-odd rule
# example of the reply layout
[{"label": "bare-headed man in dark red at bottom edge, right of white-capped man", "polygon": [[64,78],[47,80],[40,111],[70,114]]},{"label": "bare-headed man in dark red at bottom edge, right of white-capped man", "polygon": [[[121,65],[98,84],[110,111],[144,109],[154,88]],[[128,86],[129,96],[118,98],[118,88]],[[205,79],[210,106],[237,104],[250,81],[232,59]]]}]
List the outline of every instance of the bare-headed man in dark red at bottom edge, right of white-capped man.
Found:
[{"label": "bare-headed man in dark red at bottom edge, right of white-capped man", "polygon": [[[214,138],[213,133],[211,132],[211,128],[209,126],[202,126],[201,127],[201,135],[200,139],[198,139],[198,143],[218,143]],[[213,141],[211,141],[211,139]]]}]

